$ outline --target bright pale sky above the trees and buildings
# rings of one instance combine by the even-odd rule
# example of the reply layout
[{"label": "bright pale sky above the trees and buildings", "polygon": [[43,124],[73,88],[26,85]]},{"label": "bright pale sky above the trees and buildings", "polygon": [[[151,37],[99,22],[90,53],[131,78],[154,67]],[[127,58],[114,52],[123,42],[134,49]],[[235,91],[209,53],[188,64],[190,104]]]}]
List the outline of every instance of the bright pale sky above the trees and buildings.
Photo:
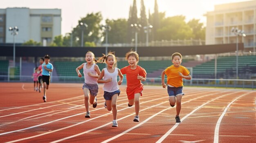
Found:
[{"label": "bright pale sky above the trees and buildings", "polygon": [[[186,21],[193,18],[200,19],[206,24],[207,11],[214,11],[214,5],[230,2],[243,2],[250,0],[157,0],[158,11],[165,12],[166,17],[175,15],[186,16]],[[140,3],[137,2],[137,13],[140,15]],[[61,34],[69,33],[72,27],[78,24],[78,20],[88,13],[101,12],[103,20],[128,19],[129,8],[133,0],[1,0],[0,9],[7,7],[27,7],[30,9],[61,9]],[[155,0],[144,0],[146,13],[154,12]]]}]

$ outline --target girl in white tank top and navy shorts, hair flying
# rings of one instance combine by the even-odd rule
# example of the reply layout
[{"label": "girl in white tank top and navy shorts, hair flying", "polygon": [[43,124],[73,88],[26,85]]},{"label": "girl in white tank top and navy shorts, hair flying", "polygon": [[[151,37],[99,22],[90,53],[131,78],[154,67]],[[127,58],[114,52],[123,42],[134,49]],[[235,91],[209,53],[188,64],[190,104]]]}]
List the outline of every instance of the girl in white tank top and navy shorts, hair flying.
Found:
[{"label": "girl in white tank top and navy shorts, hair flying", "polygon": [[[98,83],[104,83],[104,99],[105,108],[108,111],[112,110],[113,121],[112,127],[118,127],[117,125],[117,97],[120,94],[120,90],[118,85],[121,85],[123,82],[123,75],[119,68],[116,68],[116,57],[113,53],[108,53],[108,55],[104,55],[99,59],[100,63],[106,63],[107,68],[103,68],[101,74],[98,78]],[[117,76],[119,76],[119,81],[117,82]],[[103,78],[103,79],[102,79]],[[106,107],[107,106],[107,107]]]}]

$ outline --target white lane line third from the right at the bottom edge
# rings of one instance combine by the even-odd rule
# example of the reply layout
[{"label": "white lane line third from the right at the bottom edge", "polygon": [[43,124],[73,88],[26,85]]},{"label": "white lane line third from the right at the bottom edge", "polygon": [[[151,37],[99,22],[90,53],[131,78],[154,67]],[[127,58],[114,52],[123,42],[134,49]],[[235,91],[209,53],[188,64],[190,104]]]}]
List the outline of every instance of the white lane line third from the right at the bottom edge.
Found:
[{"label": "white lane line third from the right at the bottom edge", "polygon": [[[188,100],[188,101],[182,102],[182,104],[187,103],[187,102],[190,102],[190,101],[193,101],[193,100],[195,100],[195,99],[199,99],[199,98],[202,98],[202,97],[207,97],[207,96],[215,95],[215,94],[216,94],[216,93],[209,94],[209,95],[204,95],[204,96],[197,97],[197,98],[194,98],[194,99],[190,99],[190,100]],[[229,93],[229,94],[231,94],[231,93]],[[112,141],[112,140],[114,140],[114,139],[117,139],[118,137],[120,137],[120,136],[126,134],[127,132],[130,132],[131,130],[133,130],[133,129],[139,127],[140,125],[142,125],[142,124],[144,124],[144,123],[146,123],[148,120],[152,119],[153,117],[157,116],[158,114],[160,114],[160,113],[162,113],[162,112],[164,112],[164,111],[166,111],[166,110],[169,110],[169,109],[171,109],[171,108],[173,108],[173,107],[169,107],[169,108],[166,108],[166,109],[164,109],[164,110],[162,110],[162,111],[160,111],[160,112],[157,112],[156,114],[152,115],[151,117],[149,117],[149,118],[146,119],[145,121],[139,123],[138,125],[135,125],[134,127],[130,128],[130,129],[128,129],[128,130],[126,130],[126,131],[124,131],[124,132],[122,132],[122,133],[120,133],[120,134],[118,134],[118,135],[116,135],[116,136],[113,136],[112,138],[107,139],[107,140],[105,140],[105,141],[103,141],[103,142],[101,142],[101,143],[108,143],[109,141]],[[182,119],[184,119],[184,118],[182,118]],[[181,121],[182,121],[182,120],[181,120]],[[176,123],[175,125],[177,125],[177,124],[178,124],[178,123]],[[170,133],[169,133],[169,134],[170,134]],[[169,135],[169,134],[168,134],[168,135]]]}]

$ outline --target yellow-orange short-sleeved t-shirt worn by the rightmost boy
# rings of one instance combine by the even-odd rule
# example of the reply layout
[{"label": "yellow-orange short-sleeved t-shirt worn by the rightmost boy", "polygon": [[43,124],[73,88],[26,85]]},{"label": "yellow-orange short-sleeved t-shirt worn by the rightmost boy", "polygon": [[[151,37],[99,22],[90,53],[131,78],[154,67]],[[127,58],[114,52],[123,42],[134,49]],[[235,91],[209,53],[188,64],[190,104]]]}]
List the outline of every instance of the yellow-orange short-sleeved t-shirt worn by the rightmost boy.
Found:
[{"label": "yellow-orange short-sleeved t-shirt worn by the rightmost boy", "polygon": [[164,70],[164,73],[167,76],[167,84],[175,87],[183,86],[183,80],[182,77],[179,75],[179,73],[182,73],[182,75],[189,75],[189,70],[186,69],[184,66],[175,67],[173,65],[169,66]]}]

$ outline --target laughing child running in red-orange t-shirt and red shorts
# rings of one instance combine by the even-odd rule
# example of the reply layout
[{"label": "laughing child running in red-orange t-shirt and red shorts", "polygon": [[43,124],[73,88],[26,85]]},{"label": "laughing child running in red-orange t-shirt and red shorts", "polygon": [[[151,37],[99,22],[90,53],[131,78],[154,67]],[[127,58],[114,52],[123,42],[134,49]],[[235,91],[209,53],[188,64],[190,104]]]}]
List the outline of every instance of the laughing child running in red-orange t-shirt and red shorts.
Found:
[{"label": "laughing child running in red-orange t-shirt and red shorts", "polygon": [[133,121],[139,122],[139,97],[142,96],[143,84],[141,81],[146,80],[146,70],[138,66],[139,55],[136,51],[126,53],[129,66],[121,69],[121,73],[126,74],[128,97],[128,106],[131,107],[135,103],[135,117]]}]

